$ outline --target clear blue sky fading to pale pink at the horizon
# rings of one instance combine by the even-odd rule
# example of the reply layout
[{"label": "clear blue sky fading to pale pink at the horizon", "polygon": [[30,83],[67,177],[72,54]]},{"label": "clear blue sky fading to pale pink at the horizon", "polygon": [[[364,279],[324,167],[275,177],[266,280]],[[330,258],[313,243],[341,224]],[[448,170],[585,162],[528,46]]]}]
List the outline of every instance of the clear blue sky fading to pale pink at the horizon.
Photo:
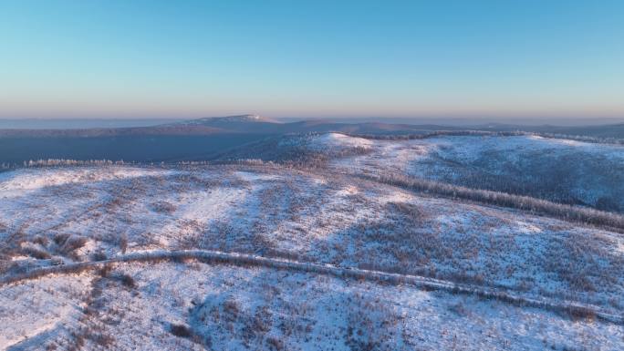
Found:
[{"label": "clear blue sky fading to pale pink at the horizon", "polygon": [[624,117],[624,1],[0,0],[0,118]]}]

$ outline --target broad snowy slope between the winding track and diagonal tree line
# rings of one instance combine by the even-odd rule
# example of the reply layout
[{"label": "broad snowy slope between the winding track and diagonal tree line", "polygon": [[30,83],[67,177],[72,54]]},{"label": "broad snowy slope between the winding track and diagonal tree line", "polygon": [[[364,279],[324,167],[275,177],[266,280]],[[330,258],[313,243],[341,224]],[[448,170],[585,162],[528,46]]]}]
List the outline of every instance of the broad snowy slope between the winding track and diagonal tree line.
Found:
[{"label": "broad snowy slope between the winding track and diagonal tree line", "polygon": [[[21,172],[0,183],[9,255],[203,248],[622,303],[620,234],[522,212],[273,166]],[[87,239],[76,255],[68,235]]]}]

